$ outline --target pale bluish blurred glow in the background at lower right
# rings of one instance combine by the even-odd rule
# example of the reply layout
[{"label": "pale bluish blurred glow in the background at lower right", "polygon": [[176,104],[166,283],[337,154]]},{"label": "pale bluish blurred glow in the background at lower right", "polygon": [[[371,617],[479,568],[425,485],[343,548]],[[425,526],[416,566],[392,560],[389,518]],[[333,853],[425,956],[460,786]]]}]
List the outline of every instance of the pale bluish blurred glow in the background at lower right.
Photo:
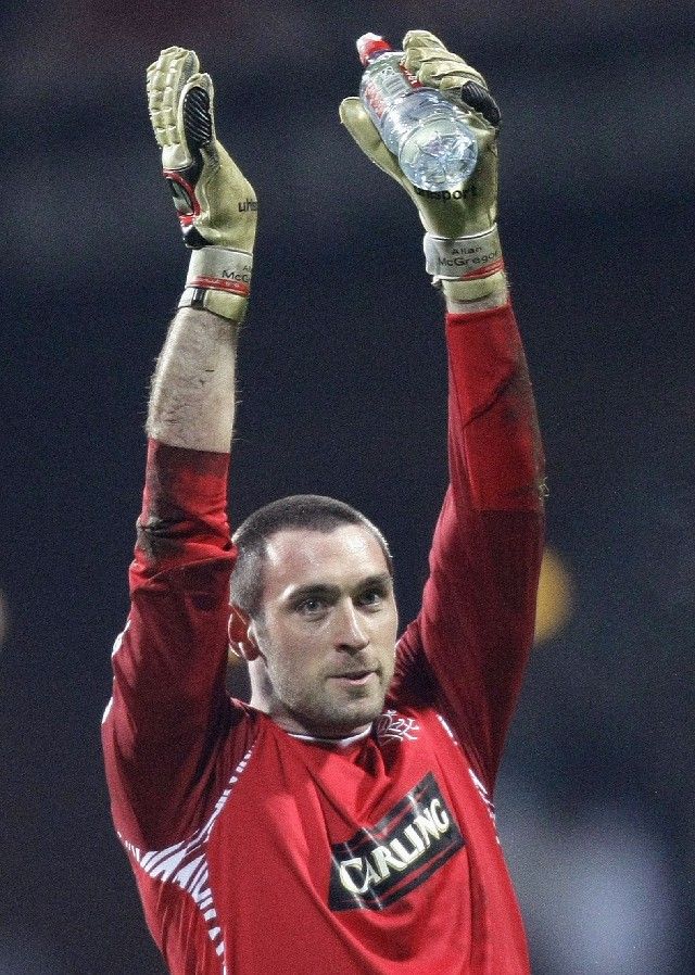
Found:
[{"label": "pale bluish blurred glow in the background at lower right", "polygon": [[667,851],[639,812],[611,806],[553,812],[528,794],[508,807],[503,841],[534,972],[677,971],[679,904]]}]

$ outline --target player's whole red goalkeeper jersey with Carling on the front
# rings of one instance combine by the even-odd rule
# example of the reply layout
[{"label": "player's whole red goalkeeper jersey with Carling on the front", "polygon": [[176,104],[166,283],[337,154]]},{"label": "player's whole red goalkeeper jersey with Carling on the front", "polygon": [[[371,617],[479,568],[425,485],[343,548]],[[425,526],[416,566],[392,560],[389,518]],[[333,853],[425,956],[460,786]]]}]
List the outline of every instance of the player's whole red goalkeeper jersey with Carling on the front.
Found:
[{"label": "player's whole red goalkeeper jersey with Carling on the front", "polygon": [[542,465],[509,306],[448,315],[451,484],[370,732],[225,689],[226,455],[151,443],[103,744],[173,975],[528,975],[492,793],[533,635]]}]

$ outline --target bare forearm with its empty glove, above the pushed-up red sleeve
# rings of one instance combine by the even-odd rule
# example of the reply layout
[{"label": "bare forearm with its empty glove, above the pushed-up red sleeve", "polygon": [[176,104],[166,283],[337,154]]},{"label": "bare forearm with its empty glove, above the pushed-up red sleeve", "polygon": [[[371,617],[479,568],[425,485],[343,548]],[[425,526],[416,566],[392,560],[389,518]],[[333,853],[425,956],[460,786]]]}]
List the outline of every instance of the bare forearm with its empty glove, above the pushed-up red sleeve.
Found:
[{"label": "bare forearm with its empty glove, above the pushed-up red sleeve", "polygon": [[194,51],[166,48],[148,68],[150,118],[191,261],[152,381],[147,430],[169,446],[228,453],[257,204],[216,139],[213,96]]}]

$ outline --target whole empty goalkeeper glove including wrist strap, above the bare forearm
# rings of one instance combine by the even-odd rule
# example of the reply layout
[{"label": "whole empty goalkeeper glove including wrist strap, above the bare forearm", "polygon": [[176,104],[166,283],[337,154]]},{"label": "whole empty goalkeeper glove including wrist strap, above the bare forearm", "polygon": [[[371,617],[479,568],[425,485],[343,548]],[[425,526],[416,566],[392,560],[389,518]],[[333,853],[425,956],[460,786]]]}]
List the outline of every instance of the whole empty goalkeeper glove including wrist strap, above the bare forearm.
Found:
[{"label": "whole empty goalkeeper glove including wrist strap, above the bare forearm", "polygon": [[198,55],[166,48],[148,68],[148,107],[186,245],[193,250],[179,307],[243,317],[251,284],[256,195],[215,136],[213,83]]}]

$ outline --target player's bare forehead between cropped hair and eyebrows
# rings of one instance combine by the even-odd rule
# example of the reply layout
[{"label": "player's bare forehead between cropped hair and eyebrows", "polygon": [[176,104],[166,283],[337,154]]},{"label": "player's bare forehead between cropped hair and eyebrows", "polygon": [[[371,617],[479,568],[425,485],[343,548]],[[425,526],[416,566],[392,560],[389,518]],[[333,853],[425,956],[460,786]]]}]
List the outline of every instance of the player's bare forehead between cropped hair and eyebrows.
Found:
[{"label": "player's bare forehead between cropped hair and eyebrows", "polygon": [[330,532],[283,529],[266,543],[264,595],[312,583],[350,586],[388,571],[381,545],[358,524],[341,524]]}]

